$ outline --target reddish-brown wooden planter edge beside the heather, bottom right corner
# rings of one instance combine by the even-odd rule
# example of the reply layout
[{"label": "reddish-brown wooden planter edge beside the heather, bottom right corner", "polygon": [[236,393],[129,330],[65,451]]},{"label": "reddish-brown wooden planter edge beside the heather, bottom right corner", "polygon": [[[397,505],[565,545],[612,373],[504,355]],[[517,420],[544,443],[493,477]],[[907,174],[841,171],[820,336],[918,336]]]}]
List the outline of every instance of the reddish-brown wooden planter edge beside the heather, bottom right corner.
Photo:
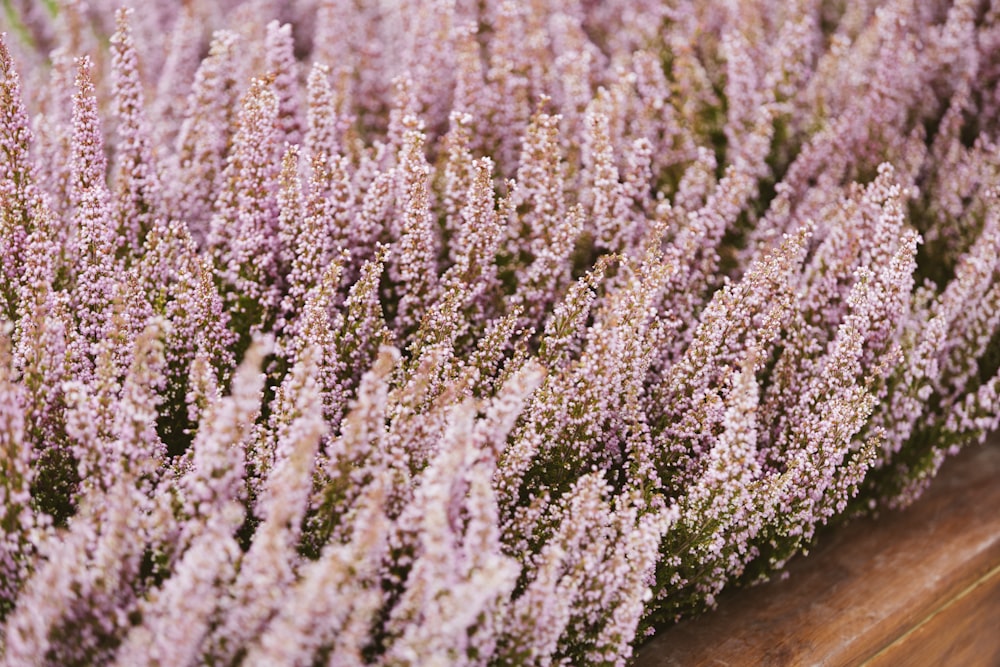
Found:
[{"label": "reddish-brown wooden planter edge beside the heather, bottom right corner", "polygon": [[987,661],[968,664],[1000,664],[988,659],[1000,642],[998,508],[1000,446],[970,448],[911,507],[826,536],[784,580],[724,594],[717,611],[643,646],[635,664],[966,664],[894,659],[923,655],[900,653],[909,641],[973,643]]}]

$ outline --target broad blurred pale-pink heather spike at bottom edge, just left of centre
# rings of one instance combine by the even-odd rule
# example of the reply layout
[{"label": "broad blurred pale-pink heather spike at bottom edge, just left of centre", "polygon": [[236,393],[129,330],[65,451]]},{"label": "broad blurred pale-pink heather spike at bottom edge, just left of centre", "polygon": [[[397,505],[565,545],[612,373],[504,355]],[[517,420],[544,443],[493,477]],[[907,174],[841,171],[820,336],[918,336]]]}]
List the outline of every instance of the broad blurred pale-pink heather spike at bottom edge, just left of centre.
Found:
[{"label": "broad blurred pale-pink heather spike at bottom edge, just left of centre", "polygon": [[[480,458],[470,403],[454,409],[440,451],[399,521],[413,562],[387,630],[389,660],[444,664],[475,650],[489,659],[502,612],[498,604],[516,583],[518,566],[500,552],[492,460]],[[478,460],[477,460],[478,459]],[[412,543],[415,534],[417,542]]]}]

